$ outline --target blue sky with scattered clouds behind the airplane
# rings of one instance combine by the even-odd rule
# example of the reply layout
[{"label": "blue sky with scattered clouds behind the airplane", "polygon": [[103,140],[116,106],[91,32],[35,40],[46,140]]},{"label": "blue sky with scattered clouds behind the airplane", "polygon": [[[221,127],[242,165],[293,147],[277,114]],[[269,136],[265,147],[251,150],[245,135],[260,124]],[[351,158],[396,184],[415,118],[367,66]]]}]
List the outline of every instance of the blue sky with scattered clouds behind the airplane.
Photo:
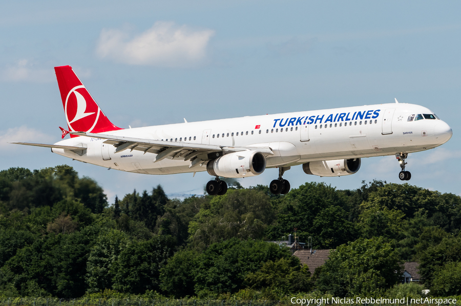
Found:
[{"label": "blue sky with scattered clouds behind the airplane", "polygon": [[[413,103],[453,129],[442,147],[412,153],[410,183],[461,194],[460,2],[16,1],[0,4],[0,169],[73,166],[110,201],[161,184],[202,194],[205,173],[153,176],[82,164],[46,148],[66,126],[54,66],[71,65],[119,127]],[[170,43],[165,43],[170,42]],[[173,42],[173,43],[171,43]],[[335,178],[285,173],[291,187],[323,181],[401,183],[393,156]],[[241,179],[267,185],[276,169]]]}]

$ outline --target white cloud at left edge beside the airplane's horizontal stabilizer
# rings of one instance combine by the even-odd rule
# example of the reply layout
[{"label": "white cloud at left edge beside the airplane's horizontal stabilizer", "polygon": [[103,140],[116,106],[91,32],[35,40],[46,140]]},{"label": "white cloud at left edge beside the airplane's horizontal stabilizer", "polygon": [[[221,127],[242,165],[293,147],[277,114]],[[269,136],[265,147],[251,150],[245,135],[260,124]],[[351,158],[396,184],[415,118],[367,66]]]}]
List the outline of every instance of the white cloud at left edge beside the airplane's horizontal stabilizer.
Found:
[{"label": "white cloud at left edge beside the airplane's horizontal stabilizer", "polygon": [[52,140],[53,137],[26,126],[0,131],[0,149],[13,150],[14,148],[19,148],[18,145],[8,144],[10,141],[43,143],[51,142]]}]

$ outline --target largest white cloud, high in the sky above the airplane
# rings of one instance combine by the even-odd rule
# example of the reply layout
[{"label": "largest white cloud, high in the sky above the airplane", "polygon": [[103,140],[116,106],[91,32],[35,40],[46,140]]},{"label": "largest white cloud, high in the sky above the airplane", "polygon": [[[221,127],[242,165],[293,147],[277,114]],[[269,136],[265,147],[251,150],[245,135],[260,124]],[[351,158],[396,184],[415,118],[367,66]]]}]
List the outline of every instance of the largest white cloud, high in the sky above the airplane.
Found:
[{"label": "largest white cloud, high in the sky above the airplane", "polygon": [[103,29],[96,52],[102,58],[132,65],[183,67],[199,63],[215,31],[192,30],[172,22],[156,22],[149,30],[131,35],[128,29]]}]

